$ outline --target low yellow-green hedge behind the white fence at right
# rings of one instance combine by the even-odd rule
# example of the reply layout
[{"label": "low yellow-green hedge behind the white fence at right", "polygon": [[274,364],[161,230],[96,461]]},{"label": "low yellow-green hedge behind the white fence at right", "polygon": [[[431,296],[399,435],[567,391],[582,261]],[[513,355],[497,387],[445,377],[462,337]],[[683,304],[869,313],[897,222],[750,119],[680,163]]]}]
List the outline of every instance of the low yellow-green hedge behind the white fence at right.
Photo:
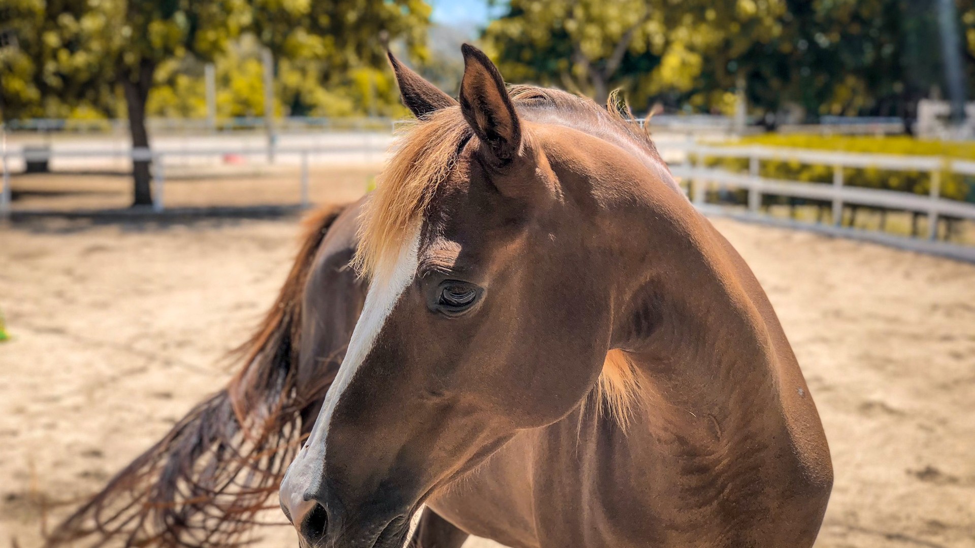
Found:
[{"label": "low yellow-green hedge behind the white fence at right", "polygon": [[[735,144],[811,148],[842,152],[941,156],[970,160],[975,158],[975,143],[922,140],[912,137],[822,137],[810,135],[764,135],[745,137]],[[747,158],[705,158],[705,164],[733,172],[747,172]],[[803,164],[792,160],[762,160],[760,175],[769,178],[829,183],[833,167]],[[844,168],[843,184],[927,195],[931,174],[919,171],[888,171],[877,168]],[[952,200],[975,202],[975,177],[941,174],[941,196]]]}]

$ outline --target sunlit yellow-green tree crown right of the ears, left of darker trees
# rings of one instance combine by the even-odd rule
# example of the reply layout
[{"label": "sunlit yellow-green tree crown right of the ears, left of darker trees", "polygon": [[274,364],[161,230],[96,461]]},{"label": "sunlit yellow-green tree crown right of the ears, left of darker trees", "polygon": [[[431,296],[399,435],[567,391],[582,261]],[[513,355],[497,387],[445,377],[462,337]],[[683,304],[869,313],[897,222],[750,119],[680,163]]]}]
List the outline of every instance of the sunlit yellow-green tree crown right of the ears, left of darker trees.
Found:
[{"label": "sunlit yellow-green tree crown right of the ears, left of darker trees", "polygon": [[512,0],[487,47],[505,74],[603,101],[622,87],[637,102],[694,88],[709,56],[774,33],[781,0]]}]

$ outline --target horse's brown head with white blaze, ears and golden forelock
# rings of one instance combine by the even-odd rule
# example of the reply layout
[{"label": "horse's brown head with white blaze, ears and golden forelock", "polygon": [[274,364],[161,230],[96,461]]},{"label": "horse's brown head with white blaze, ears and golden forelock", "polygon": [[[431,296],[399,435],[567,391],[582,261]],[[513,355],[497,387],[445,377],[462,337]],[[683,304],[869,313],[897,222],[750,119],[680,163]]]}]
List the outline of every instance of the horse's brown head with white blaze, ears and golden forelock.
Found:
[{"label": "horse's brown head with white blaze, ears and golden forelock", "polygon": [[463,55],[459,101],[390,57],[419,122],[360,218],[369,293],[280,491],[311,546],[402,546],[428,497],[518,432],[594,391],[627,414],[634,372],[611,350],[634,336],[620,314],[645,243],[619,212],[689,206],[619,113],[507,88],[484,53]]}]

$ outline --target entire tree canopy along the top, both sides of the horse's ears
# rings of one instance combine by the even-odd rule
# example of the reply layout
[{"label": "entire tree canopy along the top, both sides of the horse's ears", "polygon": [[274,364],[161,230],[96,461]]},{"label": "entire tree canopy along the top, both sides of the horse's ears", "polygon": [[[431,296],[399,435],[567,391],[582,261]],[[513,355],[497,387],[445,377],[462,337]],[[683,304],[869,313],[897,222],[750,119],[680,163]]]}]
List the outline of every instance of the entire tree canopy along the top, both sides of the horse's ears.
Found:
[{"label": "entire tree canopy along the top, both sides of the horse's ears", "polygon": [[[972,89],[975,0],[956,6]],[[506,78],[600,99],[620,87],[638,109],[729,113],[743,85],[758,116],[911,118],[918,98],[944,88],[931,0],[510,0],[505,10],[483,42]],[[8,119],[122,117],[119,83],[148,64],[149,114],[203,117],[203,63],[215,60],[218,116],[260,115],[268,47],[276,112],[396,115],[388,42],[451,80],[424,46],[429,15],[421,0],[3,0],[0,27],[19,48],[0,53],[0,98]]]}]

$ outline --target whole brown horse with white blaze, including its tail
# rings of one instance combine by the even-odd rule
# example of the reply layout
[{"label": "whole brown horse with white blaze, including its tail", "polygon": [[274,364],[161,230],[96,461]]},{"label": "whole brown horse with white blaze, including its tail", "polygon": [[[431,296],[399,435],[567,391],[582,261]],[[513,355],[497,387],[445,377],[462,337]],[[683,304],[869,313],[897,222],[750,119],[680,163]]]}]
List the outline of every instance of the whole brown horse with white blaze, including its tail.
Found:
[{"label": "whole brown horse with white blaze, including its tail", "polygon": [[829,450],[755,276],[615,108],[463,54],[459,104],[391,57],[420,122],[378,189],[313,219],[244,371],[54,542],[239,540],[307,433],[306,546],[812,545]]}]

